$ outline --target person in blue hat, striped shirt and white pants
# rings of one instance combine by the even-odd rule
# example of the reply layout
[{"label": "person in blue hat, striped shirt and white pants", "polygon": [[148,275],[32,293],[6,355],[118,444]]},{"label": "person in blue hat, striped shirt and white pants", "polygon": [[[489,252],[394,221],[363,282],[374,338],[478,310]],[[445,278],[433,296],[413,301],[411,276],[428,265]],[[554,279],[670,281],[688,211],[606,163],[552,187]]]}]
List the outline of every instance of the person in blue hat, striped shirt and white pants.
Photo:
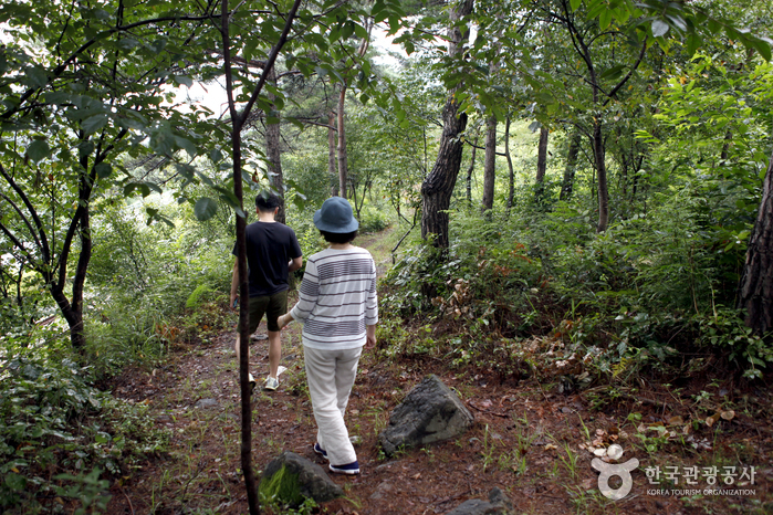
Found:
[{"label": "person in blue hat, striped shirt and white pants", "polygon": [[376,264],[367,250],[352,244],[359,223],[346,199],[325,200],[314,213],[314,224],[330,248],[309,258],[297,304],[278,323],[284,327],[303,322],[306,379],[317,425],[314,452],[327,459],[332,472],[359,474],[344,413],[363,347],[376,345]]}]

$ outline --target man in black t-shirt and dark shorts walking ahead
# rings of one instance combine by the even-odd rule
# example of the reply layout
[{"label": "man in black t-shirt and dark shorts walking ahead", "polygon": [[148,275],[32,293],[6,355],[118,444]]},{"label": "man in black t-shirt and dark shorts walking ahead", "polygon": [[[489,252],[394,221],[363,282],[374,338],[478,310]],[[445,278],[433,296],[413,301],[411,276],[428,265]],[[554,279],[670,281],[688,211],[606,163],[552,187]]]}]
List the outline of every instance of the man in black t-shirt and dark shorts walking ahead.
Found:
[{"label": "man in black t-shirt and dark shorts walking ahead", "polygon": [[[265,314],[269,327],[269,377],[263,388],[275,390],[279,387],[279,360],[282,357],[282,341],[276,318],[288,311],[288,274],[303,264],[301,245],[295,232],[283,223],[274,221],[281,201],[279,197],[259,195],[255,198],[258,221],[247,227],[247,266],[250,284],[250,334],[254,333]],[[237,245],[233,245],[237,255]],[[238,261],[233,263],[231,277],[231,306],[236,307],[239,288]],[[236,350],[239,359],[240,337],[237,334]]]}]

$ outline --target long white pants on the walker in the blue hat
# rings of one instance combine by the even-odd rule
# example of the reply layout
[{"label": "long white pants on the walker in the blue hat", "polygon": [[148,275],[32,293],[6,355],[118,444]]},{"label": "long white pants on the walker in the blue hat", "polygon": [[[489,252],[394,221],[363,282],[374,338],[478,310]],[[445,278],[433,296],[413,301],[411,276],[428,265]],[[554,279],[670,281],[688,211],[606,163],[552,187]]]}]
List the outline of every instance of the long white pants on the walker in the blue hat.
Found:
[{"label": "long white pants on the walker in the blue hat", "polygon": [[316,441],[327,452],[327,460],[333,465],[348,465],[357,460],[344,413],[362,353],[362,347],[343,350],[303,348],[317,427]]}]

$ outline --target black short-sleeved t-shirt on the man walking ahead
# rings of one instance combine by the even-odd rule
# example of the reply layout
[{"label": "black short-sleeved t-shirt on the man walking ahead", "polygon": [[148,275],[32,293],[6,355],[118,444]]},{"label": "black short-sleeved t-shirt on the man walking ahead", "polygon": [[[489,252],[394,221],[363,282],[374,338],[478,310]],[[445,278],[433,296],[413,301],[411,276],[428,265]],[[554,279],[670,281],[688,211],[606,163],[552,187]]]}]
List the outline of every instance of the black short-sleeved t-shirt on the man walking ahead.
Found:
[{"label": "black short-sleeved t-shirt on the man walking ahead", "polygon": [[[250,271],[250,297],[273,295],[288,290],[288,263],[301,258],[295,232],[279,222],[247,225],[247,265]],[[233,245],[237,255],[237,245]]]}]

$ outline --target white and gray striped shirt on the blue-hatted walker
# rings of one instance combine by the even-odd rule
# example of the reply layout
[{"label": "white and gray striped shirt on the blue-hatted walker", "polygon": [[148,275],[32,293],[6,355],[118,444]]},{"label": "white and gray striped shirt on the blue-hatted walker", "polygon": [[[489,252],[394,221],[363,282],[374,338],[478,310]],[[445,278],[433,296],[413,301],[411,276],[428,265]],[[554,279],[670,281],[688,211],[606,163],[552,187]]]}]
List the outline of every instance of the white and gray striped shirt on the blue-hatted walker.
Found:
[{"label": "white and gray striped shirt on the blue-hatted walker", "polygon": [[358,246],[326,249],[309,258],[297,304],[290,312],[303,322],[303,345],[340,350],[365,345],[368,325],[378,322],[376,264]]}]

